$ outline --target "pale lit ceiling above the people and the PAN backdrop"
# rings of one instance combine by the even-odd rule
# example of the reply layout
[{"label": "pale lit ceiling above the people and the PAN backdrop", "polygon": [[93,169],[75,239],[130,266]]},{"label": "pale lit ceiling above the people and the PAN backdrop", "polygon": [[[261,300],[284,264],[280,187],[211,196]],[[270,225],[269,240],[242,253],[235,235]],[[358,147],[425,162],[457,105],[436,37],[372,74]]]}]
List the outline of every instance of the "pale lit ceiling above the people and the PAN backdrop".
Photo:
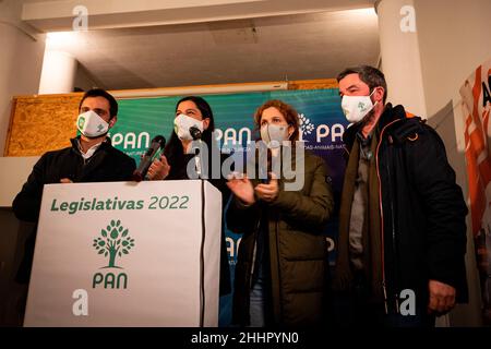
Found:
[{"label": "pale lit ceiling above the people and the PAN backdrop", "polygon": [[328,79],[380,56],[373,9],[70,32],[47,47],[108,89]]}]

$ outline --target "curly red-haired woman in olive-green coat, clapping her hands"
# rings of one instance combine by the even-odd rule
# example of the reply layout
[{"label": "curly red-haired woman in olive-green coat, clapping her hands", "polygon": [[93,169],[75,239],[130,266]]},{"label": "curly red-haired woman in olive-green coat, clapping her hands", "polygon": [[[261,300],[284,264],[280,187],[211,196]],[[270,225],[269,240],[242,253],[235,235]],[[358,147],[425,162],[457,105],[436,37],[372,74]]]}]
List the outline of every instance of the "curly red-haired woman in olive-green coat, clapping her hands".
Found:
[{"label": "curly red-haired woman in olive-green coat, clapping her hands", "polygon": [[[227,225],[243,234],[235,273],[232,322],[242,326],[322,325],[328,308],[323,233],[334,207],[326,166],[303,147],[295,149],[301,145],[297,144],[299,117],[291,106],[266,101],[254,121],[272,155],[267,164],[275,168],[275,159],[292,151],[291,158],[283,160],[291,161],[287,168],[294,169],[296,178],[285,174],[284,166],[284,176],[272,173],[266,181],[243,176],[227,183],[233,193]],[[261,173],[261,168],[255,172]],[[296,185],[291,185],[294,181]]]}]

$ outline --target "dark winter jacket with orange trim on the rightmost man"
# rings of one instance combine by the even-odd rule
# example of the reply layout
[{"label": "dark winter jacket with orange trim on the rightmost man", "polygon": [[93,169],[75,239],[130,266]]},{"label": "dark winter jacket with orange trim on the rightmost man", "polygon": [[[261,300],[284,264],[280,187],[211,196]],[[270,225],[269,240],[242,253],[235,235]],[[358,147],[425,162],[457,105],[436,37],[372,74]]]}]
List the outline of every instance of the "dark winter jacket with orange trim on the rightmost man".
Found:
[{"label": "dark winter jacket with orange trim on the rightmost man", "polygon": [[[358,131],[352,127],[345,132],[348,151]],[[443,141],[420,118],[407,118],[403,106],[387,105],[375,132],[390,308],[402,290],[411,289],[417,306],[426,309],[430,279],[453,286],[457,302],[466,302],[468,210]]]}]

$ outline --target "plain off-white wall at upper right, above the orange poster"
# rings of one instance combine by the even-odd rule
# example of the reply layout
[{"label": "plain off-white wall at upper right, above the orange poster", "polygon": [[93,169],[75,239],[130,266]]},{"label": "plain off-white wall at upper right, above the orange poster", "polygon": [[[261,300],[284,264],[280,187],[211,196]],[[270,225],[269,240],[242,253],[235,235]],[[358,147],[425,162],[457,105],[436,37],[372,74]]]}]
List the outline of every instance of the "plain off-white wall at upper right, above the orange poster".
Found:
[{"label": "plain off-white wall at upper right, above the orange poster", "polygon": [[459,97],[464,81],[479,64],[491,59],[491,1],[415,0],[415,8],[431,116],[452,97]]}]

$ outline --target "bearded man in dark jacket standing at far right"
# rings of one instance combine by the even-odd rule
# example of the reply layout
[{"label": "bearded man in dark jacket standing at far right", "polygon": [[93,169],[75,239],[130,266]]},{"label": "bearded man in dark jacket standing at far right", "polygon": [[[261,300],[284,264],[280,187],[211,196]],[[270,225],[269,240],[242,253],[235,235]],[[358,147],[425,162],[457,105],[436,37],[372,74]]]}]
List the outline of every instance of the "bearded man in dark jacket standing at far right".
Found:
[{"label": "bearded man in dark jacket standing at far right", "polygon": [[[467,207],[436,132],[403,106],[372,67],[338,77],[352,123],[339,214],[334,287],[347,324],[434,326],[467,301]],[[339,298],[342,299],[342,298]]]}]

